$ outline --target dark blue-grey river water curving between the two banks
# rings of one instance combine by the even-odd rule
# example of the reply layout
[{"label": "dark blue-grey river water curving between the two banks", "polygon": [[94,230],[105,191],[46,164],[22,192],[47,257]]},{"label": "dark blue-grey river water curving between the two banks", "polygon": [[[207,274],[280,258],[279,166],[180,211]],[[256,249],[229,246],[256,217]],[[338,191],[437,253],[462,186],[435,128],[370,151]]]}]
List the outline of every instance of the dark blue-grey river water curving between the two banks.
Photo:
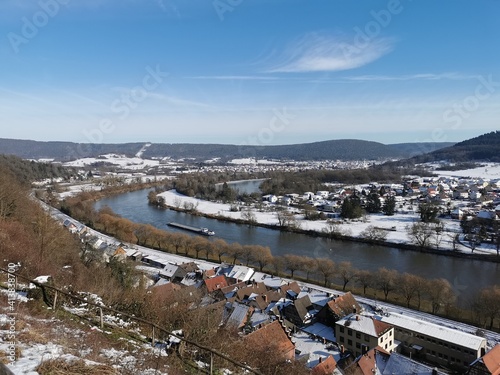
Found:
[{"label": "dark blue-grey river water curving between the two banks", "polygon": [[[485,286],[500,283],[500,264],[479,260],[424,254],[393,247],[349,241],[315,238],[302,234],[250,227],[215,219],[163,210],[148,205],[148,191],[136,191],[98,201],[96,209],[109,206],[115,213],[134,222],[151,224],[168,231],[182,231],[167,226],[174,221],[215,231],[215,238],[242,245],[269,246],[273,255],[297,254],[315,258],[349,261],[357,269],[376,271],[380,267],[409,272],[425,278],[445,278],[451,282],[460,302],[464,303]],[[192,234],[196,235],[196,234]]]}]

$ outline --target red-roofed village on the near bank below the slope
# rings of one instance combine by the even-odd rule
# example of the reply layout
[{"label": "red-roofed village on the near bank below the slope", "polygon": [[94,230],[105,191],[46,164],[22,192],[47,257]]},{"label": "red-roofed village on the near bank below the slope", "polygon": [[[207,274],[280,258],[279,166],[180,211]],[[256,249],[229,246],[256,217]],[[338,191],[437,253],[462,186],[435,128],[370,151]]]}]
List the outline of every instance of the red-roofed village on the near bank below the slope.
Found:
[{"label": "red-roofed village on the near bank below the slope", "polygon": [[197,305],[220,306],[220,324],[237,329],[248,347],[272,344],[276,355],[303,361],[312,374],[497,371],[496,333],[243,265],[127,245],[53,209],[52,215],[98,250],[103,261],[135,262],[148,275],[148,293],[167,301],[175,293],[201,292]]}]

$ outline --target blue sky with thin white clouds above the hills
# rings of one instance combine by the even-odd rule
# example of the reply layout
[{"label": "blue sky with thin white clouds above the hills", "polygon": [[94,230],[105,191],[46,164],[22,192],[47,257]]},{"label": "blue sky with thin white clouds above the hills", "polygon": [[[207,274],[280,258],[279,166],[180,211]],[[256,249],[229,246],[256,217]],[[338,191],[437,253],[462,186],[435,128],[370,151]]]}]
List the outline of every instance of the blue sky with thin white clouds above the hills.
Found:
[{"label": "blue sky with thin white clouds above the hills", "polygon": [[498,0],[2,0],[0,137],[291,144],[499,129]]}]

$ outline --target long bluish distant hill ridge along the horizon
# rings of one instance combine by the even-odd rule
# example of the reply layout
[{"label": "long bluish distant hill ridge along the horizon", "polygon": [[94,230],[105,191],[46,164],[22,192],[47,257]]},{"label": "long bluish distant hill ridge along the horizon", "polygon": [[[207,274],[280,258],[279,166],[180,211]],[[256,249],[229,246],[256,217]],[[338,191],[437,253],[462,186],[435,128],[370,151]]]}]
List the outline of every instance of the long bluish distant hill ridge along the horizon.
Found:
[{"label": "long bluish distant hill ridge along the horizon", "polygon": [[[221,158],[224,160],[255,157],[279,160],[380,160],[400,159],[433,151],[452,143],[403,143],[385,145],[358,139],[339,139],[321,142],[279,145],[238,146],[226,144],[152,143],[144,158],[195,158],[199,161]],[[93,144],[73,142],[41,142],[0,138],[0,154],[15,155],[23,159],[54,159],[69,161],[103,154],[136,155],[144,142]]]}]

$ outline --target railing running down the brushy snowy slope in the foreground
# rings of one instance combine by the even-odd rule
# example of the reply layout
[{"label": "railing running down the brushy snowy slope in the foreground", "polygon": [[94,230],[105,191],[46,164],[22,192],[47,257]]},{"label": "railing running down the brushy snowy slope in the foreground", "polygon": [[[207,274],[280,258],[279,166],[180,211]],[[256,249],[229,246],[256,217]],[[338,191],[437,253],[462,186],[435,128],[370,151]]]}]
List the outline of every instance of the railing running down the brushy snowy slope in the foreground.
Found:
[{"label": "railing running down the brushy snowy slope in the foreground", "polygon": [[[168,330],[160,327],[158,324],[150,322],[150,321],[148,321],[146,319],[138,318],[136,316],[133,316],[133,315],[127,314],[125,312],[113,309],[111,307],[106,307],[106,306],[99,305],[97,303],[93,303],[91,301],[88,301],[86,299],[83,299],[83,298],[80,298],[80,297],[75,296],[73,294],[70,294],[70,293],[68,293],[66,291],[63,291],[63,290],[61,290],[59,288],[56,288],[54,286],[46,285],[46,284],[40,283],[38,281],[31,280],[31,279],[29,279],[29,278],[27,278],[25,276],[22,276],[22,275],[19,275],[19,274],[15,273],[15,272],[9,272],[9,270],[6,270],[6,269],[1,268],[1,267],[0,267],[0,272],[4,272],[4,273],[8,274],[9,278],[10,277],[15,278],[15,287],[14,288],[16,289],[16,291],[17,291],[17,280],[18,279],[25,280],[26,282],[29,282],[29,283],[33,284],[36,288],[39,288],[41,290],[41,292],[42,292],[42,297],[43,297],[44,302],[47,305],[51,306],[54,311],[56,311],[56,309],[58,307],[58,305],[57,305],[58,299],[60,299],[61,296],[64,296],[64,297],[67,297],[67,298],[69,298],[71,300],[79,301],[79,302],[87,304],[88,306],[92,306],[92,307],[96,308],[96,310],[99,311],[99,325],[100,325],[101,329],[104,328],[104,325],[105,325],[105,322],[104,322],[104,313],[105,312],[109,312],[109,313],[113,313],[113,314],[118,314],[120,316],[124,316],[124,317],[130,319],[131,321],[134,321],[136,323],[142,324],[143,326],[146,326],[146,327],[149,326],[149,327],[151,327],[150,338],[151,338],[151,344],[153,346],[155,345],[155,342],[156,342],[156,336],[158,334],[164,334],[167,337],[170,337],[170,336],[175,337],[176,339],[178,339],[178,340],[180,340],[180,341],[182,341],[182,342],[184,342],[186,344],[192,345],[195,348],[198,348],[198,349],[200,349],[200,350],[202,350],[204,352],[210,353],[210,359],[211,360],[210,360],[210,364],[209,364],[210,368],[208,370],[209,374],[213,374],[213,371],[214,371],[214,369],[213,369],[213,357],[216,356],[216,357],[219,357],[220,359],[222,359],[224,361],[227,361],[227,362],[231,363],[232,365],[234,365],[236,367],[239,367],[239,368],[241,368],[243,370],[248,371],[251,374],[262,375],[262,373],[259,372],[258,370],[253,369],[253,368],[251,368],[251,367],[249,367],[249,366],[247,366],[245,364],[242,364],[242,363],[240,363],[238,361],[235,361],[234,359],[228,357],[227,355],[225,355],[223,353],[220,353],[220,352],[218,352],[218,351],[216,351],[214,349],[208,348],[208,347],[206,347],[204,345],[200,345],[200,344],[198,344],[198,343],[196,343],[196,342],[194,342],[192,340],[186,339],[185,337],[179,336],[179,335],[177,335],[177,334],[175,334],[173,332],[170,332],[170,331],[168,331]],[[52,298],[49,298],[48,291],[53,292]],[[70,310],[66,310],[66,311],[68,311],[69,313],[71,313],[73,315],[79,316],[78,314],[75,314],[75,313],[71,312]],[[112,325],[110,325],[110,326],[112,326]],[[2,371],[2,368],[0,367],[0,375],[3,375],[3,373],[1,371]],[[8,369],[7,369],[7,371],[8,371]],[[6,372],[6,374],[9,374],[9,372]]]}]

